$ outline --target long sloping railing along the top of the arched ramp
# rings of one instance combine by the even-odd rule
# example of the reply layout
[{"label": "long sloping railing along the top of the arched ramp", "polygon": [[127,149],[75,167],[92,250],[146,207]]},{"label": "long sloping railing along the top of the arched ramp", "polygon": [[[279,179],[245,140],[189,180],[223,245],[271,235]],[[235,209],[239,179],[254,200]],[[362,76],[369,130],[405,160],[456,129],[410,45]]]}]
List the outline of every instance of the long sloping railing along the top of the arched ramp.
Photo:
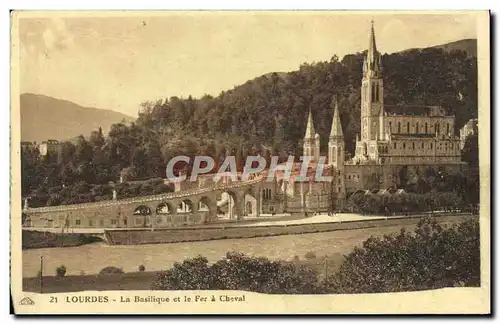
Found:
[{"label": "long sloping railing along the top of the arched ramp", "polygon": [[198,188],[193,190],[186,190],[180,192],[170,192],[166,194],[159,195],[151,195],[151,196],[139,196],[133,198],[125,198],[118,200],[106,200],[99,202],[88,202],[82,204],[71,204],[71,205],[59,205],[59,206],[47,206],[47,207],[36,207],[36,208],[28,208],[24,210],[29,213],[42,213],[42,212],[55,212],[55,211],[66,211],[66,210],[79,210],[90,207],[107,207],[107,206],[116,206],[116,205],[124,205],[124,204],[134,204],[134,203],[143,203],[149,201],[157,201],[157,200],[167,200],[167,199],[176,199],[176,198],[184,198],[190,196],[197,196],[211,191],[219,191],[219,190],[228,190],[239,187],[249,186],[255,183],[259,183],[265,179],[265,176],[257,177],[248,181],[238,181],[231,184],[223,184],[223,185],[212,185],[206,188]]}]

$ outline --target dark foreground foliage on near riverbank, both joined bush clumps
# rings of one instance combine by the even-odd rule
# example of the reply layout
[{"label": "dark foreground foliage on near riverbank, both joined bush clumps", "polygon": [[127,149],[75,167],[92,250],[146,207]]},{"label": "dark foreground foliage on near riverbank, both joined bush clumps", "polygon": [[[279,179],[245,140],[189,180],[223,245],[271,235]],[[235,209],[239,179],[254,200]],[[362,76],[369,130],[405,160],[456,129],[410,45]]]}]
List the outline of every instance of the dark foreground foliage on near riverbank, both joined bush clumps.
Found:
[{"label": "dark foreground foliage on near riverbank, both joined bush clumps", "polygon": [[414,233],[402,230],[399,235],[371,237],[327,277],[307,262],[270,261],[229,252],[210,265],[198,256],[160,272],[152,289],[317,294],[479,286],[479,223],[469,220],[445,228],[426,219]]}]

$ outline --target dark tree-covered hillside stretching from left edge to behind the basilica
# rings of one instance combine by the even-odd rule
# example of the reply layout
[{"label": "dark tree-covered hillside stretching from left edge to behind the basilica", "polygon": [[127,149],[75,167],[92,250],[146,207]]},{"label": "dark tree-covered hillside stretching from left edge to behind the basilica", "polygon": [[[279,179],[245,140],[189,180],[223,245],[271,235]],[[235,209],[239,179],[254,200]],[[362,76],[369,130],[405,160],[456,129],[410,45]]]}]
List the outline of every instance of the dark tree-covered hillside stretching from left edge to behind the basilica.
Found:
[{"label": "dark tree-covered hillside stretching from left edge to behind the basilica", "polygon": [[[239,160],[255,153],[300,156],[309,109],[326,150],[334,96],[352,154],[360,131],[363,55],[304,63],[297,71],[270,73],[217,97],[150,98],[135,123],[113,125],[107,138],[93,132],[90,140],[64,143],[57,157],[42,162],[36,152],[25,152],[23,194],[48,194],[49,187],[77,182],[106,184],[124,168],[134,178],[162,177],[166,162],[179,154],[229,153]],[[441,105],[456,116],[455,131],[477,116],[477,63],[466,52],[415,49],[383,55],[382,64],[385,104],[401,110],[405,104]]]}]

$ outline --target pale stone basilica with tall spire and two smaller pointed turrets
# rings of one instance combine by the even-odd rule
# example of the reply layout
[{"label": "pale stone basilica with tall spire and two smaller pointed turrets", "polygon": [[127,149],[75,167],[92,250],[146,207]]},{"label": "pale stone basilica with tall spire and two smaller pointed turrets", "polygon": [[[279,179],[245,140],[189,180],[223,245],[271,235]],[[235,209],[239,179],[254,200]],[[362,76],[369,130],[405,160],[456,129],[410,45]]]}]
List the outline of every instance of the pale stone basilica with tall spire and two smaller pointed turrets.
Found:
[{"label": "pale stone basilica with tall spire and two smaller pointed turrets", "polygon": [[[447,116],[442,107],[384,105],[382,60],[373,23],[369,39],[361,84],[361,134],[356,136],[355,154],[349,160],[345,158],[338,104],[334,105],[328,165],[335,175],[330,190],[337,197],[337,205],[360,189],[397,188],[403,168],[418,173],[428,168],[456,169],[464,164],[460,137],[454,131],[455,117]],[[321,138],[314,130],[313,119],[309,112],[303,155],[318,160]]]}]

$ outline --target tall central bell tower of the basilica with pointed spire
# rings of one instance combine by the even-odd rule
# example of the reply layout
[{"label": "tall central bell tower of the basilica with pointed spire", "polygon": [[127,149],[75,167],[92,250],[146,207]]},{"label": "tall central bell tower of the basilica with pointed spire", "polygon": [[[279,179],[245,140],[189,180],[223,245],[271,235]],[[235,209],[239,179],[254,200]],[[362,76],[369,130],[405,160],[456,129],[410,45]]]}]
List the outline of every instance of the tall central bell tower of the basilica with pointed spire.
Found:
[{"label": "tall central bell tower of the basilica with pointed spire", "polygon": [[361,141],[377,140],[384,134],[384,83],[382,80],[382,58],[377,51],[373,20],[370,29],[370,43],[363,62],[361,83]]}]

